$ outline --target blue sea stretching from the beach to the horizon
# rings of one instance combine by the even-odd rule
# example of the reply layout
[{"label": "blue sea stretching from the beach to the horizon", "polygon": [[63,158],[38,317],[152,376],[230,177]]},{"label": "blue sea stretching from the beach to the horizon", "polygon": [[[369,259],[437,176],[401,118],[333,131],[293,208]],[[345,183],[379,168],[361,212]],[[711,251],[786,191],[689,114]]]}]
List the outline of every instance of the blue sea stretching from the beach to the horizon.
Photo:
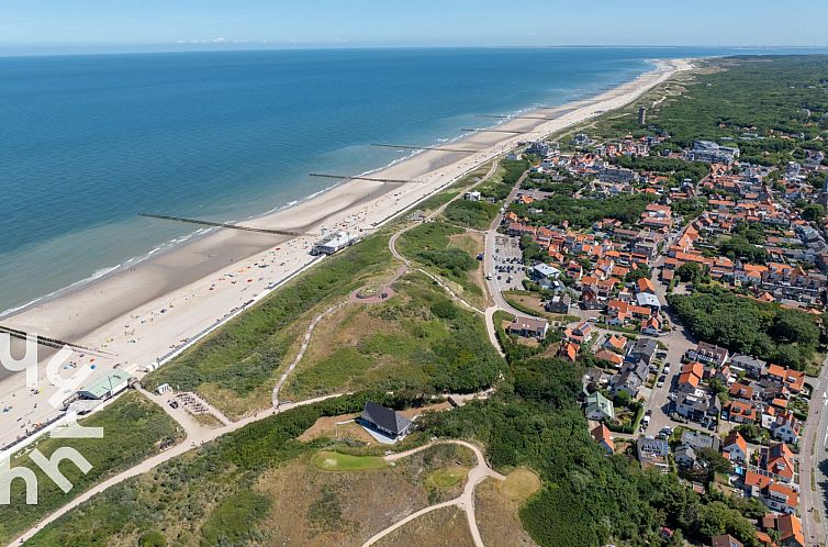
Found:
[{"label": "blue sea stretching from the beach to the horizon", "polygon": [[281,49],[0,57],[0,315],[463,129],[710,48]]}]

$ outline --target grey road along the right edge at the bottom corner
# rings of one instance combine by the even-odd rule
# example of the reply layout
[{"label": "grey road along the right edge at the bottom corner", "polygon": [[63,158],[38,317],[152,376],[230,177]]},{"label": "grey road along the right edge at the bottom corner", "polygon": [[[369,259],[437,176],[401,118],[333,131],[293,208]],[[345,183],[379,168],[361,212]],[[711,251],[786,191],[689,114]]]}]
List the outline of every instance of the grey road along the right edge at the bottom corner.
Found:
[{"label": "grey road along the right edge at the bottom corner", "polygon": [[825,502],[826,487],[828,487],[828,479],[825,473],[828,465],[828,453],[826,453],[826,449],[828,449],[827,369],[828,359],[823,364],[821,373],[813,384],[814,391],[810,397],[808,418],[805,422],[805,433],[799,443],[802,525],[805,542],[809,546],[824,546],[828,534]]}]

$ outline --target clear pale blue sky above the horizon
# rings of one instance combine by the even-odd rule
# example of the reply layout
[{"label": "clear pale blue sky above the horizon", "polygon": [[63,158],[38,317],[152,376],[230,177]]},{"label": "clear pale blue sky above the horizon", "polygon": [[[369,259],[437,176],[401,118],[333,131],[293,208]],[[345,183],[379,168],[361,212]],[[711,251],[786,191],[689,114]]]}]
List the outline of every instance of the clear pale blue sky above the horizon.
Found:
[{"label": "clear pale blue sky above the horizon", "polygon": [[0,46],[826,46],[826,0],[0,0]]}]

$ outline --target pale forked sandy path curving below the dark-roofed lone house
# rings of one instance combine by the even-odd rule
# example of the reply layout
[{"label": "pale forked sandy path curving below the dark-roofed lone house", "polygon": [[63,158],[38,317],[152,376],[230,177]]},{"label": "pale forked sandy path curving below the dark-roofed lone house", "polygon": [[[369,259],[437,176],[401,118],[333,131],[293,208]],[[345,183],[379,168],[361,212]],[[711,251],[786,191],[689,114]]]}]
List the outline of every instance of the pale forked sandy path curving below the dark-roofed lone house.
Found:
[{"label": "pale forked sandy path curving below the dark-roofed lone house", "polygon": [[484,547],[483,539],[480,536],[480,529],[478,528],[478,522],[477,517],[474,515],[474,488],[486,478],[491,477],[496,480],[505,480],[506,478],[499,473],[497,471],[494,471],[491,467],[489,467],[489,464],[486,464],[485,458],[483,457],[483,451],[475,445],[472,445],[471,443],[467,443],[466,440],[437,440],[435,443],[430,443],[411,450],[406,450],[404,453],[400,454],[393,454],[390,456],[385,456],[385,461],[395,461],[402,458],[405,458],[407,456],[411,456],[412,454],[416,454],[418,451],[425,450],[426,448],[429,448],[435,445],[440,444],[452,444],[452,445],[459,445],[463,446],[471,451],[474,453],[474,456],[478,459],[478,465],[474,466],[470,471],[466,479],[466,487],[463,488],[462,494],[455,498],[454,500],[449,500],[447,502],[437,503],[435,505],[429,505],[425,509],[422,509],[417,511],[416,513],[412,513],[411,515],[406,516],[402,521],[399,521],[388,528],[378,532],[373,536],[371,536],[370,539],[368,539],[365,544],[362,544],[362,547],[368,547],[370,545],[376,544],[387,535],[391,534],[395,529],[399,529],[410,522],[414,521],[415,518],[418,518],[419,516],[423,516],[426,513],[430,513],[432,511],[437,511],[438,509],[443,507],[450,507],[450,506],[458,506],[463,510],[466,513],[466,518],[469,523],[469,532],[471,532],[471,537],[474,540],[475,547]]}]

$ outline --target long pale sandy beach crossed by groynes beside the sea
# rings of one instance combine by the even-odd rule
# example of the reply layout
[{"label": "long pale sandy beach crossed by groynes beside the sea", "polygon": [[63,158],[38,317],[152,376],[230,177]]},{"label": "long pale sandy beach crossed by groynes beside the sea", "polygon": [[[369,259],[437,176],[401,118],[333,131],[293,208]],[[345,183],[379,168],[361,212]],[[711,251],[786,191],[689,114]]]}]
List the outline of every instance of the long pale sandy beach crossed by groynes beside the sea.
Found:
[{"label": "long pale sandy beach crossed by groynes beside the sea", "polygon": [[[74,356],[75,364],[96,367],[93,378],[114,367],[141,377],[149,364],[181,349],[194,335],[215,327],[249,305],[251,300],[262,298],[275,286],[318,260],[309,254],[318,238],[312,234],[347,230],[367,235],[518,142],[537,139],[628,104],[675,71],[689,68],[686,60],[659,62],[654,70],[598,97],[539,109],[532,114],[551,118],[549,121],[516,118],[497,127],[522,134],[478,132],[446,145],[480,152],[425,150],[371,175],[415,179],[421,183],[348,181],[295,206],[245,223],[309,235],[290,238],[215,230],[132,269],[104,276],[0,323],[111,354],[108,357]],[[481,125],[486,122],[482,121]],[[145,222],[164,221],[147,219]],[[41,366],[40,370],[43,375],[45,367]],[[0,446],[57,414],[47,403],[54,389],[42,380],[40,392],[34,393],[25,387],[23,375],[0,376],[0,411],[8,409],[0,413],[0,423],[4,426],[0,431]]]}]

